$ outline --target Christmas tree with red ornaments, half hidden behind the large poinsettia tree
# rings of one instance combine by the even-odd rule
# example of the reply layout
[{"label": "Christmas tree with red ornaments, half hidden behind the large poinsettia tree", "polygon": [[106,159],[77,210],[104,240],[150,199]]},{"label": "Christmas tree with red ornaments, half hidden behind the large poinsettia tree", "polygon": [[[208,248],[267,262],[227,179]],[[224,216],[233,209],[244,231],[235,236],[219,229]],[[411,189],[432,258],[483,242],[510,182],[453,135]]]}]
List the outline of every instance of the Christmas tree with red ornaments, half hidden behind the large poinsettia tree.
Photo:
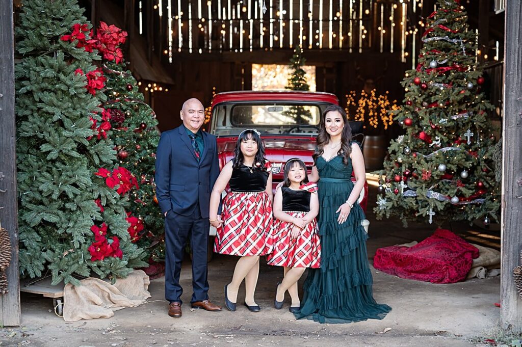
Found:
[{"label": "Christmas tree with red ornaments, half hidden behind the large poinsettia tree", "polygon": [[106,78],[104,91],[108,95],[104,108],[111,115],[112,138],[119,163],[139,182],[139,189],[131,194],[127,212],[131,241],[149,250],[155,258],[162,258],[164,254],[159,246],[163,242],[163,218],[155,202],[153,182],[159,141],[158,121],[139,92],[136,79],[125,67],[118,46],[125,42],[126,35],[120,28],[104,22],[96,31],[97,40],[103,45],[100,53],[103,54],[102,67]]}]

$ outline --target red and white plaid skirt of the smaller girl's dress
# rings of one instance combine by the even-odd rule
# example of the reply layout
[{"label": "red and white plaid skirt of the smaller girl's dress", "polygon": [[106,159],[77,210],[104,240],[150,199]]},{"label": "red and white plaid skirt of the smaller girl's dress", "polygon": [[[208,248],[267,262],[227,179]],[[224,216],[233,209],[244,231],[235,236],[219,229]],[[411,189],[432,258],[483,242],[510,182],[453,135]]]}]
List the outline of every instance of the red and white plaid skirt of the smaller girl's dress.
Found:
[{"label": "red and white plaid skirt of the smaller girl's dress", "polygon": [[[303,218],[307,212],[284,211],[295,218]],[[306,224],[297,238],[290,238],[293,223],[274,221],[274,249],[267,259],[268,265],[296,268],[321,267],[321,242],[314,219]]]}]

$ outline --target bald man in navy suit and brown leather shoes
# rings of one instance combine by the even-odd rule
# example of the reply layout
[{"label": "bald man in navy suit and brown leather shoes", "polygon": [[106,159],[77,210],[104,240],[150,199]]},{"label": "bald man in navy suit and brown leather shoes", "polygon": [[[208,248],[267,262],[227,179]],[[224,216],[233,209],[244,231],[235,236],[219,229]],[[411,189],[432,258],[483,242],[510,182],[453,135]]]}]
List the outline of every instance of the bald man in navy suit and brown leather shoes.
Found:
[{"label": "bald man in navy suit and brown leather shoes", "polygon": [[181,317],[183,249],[190,234],[193,308],[220,311],[208,299],[207,244],[210,192],[219,175],[216,137],[204,131],[205,108],[188,99],[183,124],[161,134],[156,152],[156,196],[165,216],[165,299],[169,316]]}]

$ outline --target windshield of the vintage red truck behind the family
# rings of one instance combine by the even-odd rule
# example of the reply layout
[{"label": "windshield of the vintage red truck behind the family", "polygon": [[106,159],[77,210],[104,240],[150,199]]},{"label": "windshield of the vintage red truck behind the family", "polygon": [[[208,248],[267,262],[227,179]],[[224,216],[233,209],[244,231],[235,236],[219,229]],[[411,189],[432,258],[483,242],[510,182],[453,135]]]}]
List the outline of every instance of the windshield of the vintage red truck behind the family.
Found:
[{"label": "windshield of the vintage red truck behind the family", "polygon": [[238,135],[255,127],[262,134],[317,134],[321,107],[314,104],[219,104],[212,111],[212,132]]}]

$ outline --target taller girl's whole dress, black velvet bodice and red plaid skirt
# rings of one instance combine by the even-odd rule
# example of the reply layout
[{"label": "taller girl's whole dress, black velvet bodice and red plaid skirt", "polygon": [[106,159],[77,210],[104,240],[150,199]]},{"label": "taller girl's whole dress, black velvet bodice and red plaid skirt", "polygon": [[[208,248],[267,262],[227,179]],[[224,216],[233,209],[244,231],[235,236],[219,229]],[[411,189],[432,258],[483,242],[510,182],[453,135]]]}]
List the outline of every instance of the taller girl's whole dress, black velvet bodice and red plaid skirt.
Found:
[{"label": "taller girl's whole dress, black velvet bodice and red plaid skirt", "polygon": [[262,256],[271,252],[272,203],[265,192],[270,165],[234,167],[230,192],[223,199],[223,226],[217,230],[214,252]]}]

